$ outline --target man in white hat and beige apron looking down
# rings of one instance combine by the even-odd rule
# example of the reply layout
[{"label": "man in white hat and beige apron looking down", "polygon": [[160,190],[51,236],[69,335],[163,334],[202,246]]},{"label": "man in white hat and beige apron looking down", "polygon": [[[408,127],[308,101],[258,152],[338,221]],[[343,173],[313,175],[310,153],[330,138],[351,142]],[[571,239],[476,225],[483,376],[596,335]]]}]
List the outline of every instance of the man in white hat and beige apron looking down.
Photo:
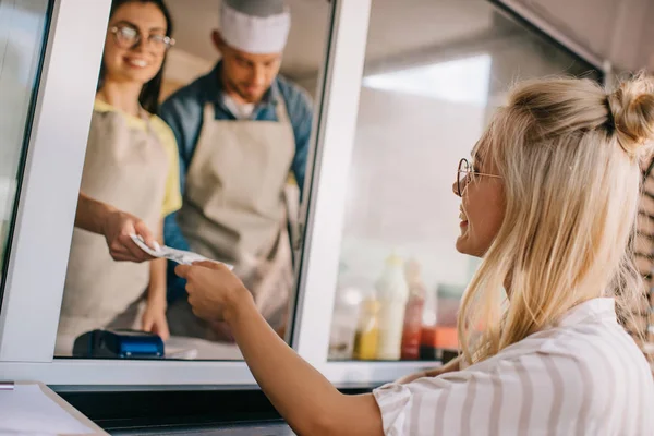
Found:
[{"label": "man in white hat and beige apron looking down", "polygon": [[[288,229],[298,218],[284,194],[289,173],[304,184],[313,111],[306,94],[278,75],[291,23],[283,0],[223,0],[220,12],[213,39],[221,61],[160,110],[177,136],[183,193],[165,239],[233,264],[281,328],[293,283]],[[213,337],[216,326],[192,317],[184,282],[173,274],[168,282],[171,334]]]}]

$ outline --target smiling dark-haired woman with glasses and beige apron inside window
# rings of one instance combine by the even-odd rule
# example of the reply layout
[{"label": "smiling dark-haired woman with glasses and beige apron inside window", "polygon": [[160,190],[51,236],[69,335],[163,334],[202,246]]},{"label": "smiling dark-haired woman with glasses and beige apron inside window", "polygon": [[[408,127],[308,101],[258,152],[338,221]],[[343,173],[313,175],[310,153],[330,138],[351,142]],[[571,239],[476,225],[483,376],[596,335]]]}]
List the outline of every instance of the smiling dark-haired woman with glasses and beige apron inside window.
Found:
[{"label": "smiling dark-haired woman with glasses and beige apron inside window", "polygon": [[[167,50],[174,45],[161,0],[114,0],[82,175],[57,355],[96,328],[136,328],[167,339],[166,261],[146,255],[164,217],[181,206],[178,147],[155,116]],[[107,250],[107,245],[109,250]],[[132,261],[132,262],[117,262]]]}]

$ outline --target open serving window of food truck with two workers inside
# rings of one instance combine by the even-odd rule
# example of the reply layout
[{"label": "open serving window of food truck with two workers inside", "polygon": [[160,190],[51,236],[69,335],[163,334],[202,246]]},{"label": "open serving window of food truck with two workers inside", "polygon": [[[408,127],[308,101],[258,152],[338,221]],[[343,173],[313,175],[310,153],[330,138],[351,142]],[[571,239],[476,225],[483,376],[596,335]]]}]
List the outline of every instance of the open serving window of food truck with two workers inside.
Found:
[{"label": "open serving window of food truck with two workers inside", "polygon": [[56,358],[242,359],[174,261],[108,249],[124,226],[233,266],[287,337],[332,7],[113,0]]}]

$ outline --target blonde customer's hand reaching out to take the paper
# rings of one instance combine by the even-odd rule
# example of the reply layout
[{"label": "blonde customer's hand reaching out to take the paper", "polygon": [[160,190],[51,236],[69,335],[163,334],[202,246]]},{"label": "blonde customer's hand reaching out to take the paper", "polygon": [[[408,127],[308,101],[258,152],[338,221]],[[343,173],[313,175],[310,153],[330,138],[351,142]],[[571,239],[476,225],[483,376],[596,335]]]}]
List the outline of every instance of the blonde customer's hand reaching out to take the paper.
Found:
[{"label": "blonde customer's hand reaching out to take the paper", "polygon": [[254,304],[243,282],[222,264],[179,265],[174,272],[186,279],[189,304],[193,313],[205,320],[229,323],[241,304]]}]

